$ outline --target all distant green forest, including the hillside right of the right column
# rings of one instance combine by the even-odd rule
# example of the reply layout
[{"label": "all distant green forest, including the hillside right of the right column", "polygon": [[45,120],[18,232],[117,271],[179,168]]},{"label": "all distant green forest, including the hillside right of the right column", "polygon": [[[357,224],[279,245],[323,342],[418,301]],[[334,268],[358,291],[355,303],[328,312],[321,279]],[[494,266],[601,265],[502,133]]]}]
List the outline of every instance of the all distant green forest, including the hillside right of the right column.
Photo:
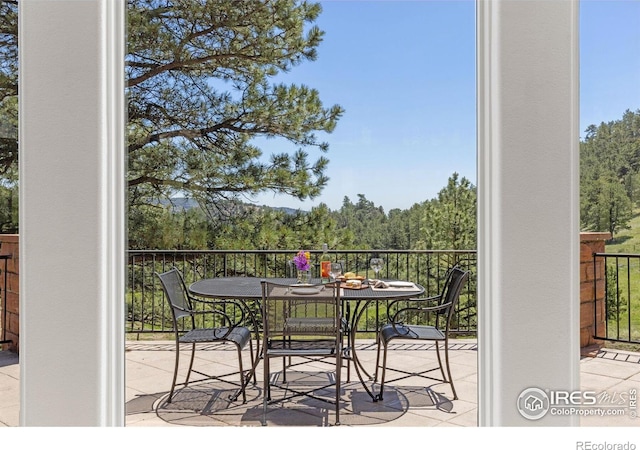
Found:
[{"label": "all distant green forest, including the hillside right of the right column", "polygon": [[[397,187],[401,193],[402,187]],[[407,187],[406,189],[411,189]],[[432,199],[385,211],[357,194],[331,210],[283,211],[237,203],[176,210],[147,206],[130,217],[131,248],[458,249],[476,248],[476,186],[454,173]],[[583,231],[628,228],[640,207],[640,110],[587,128],[580,142]]]}]

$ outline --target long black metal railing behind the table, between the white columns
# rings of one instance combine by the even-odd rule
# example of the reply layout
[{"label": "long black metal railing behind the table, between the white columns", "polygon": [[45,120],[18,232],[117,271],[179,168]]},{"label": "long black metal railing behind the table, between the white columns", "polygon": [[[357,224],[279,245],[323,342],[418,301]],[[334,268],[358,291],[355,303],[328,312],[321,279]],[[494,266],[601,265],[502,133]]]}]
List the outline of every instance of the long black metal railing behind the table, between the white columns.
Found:
[{"label": "long black metal railing behind the table, between the white columns", "polygon": [[[313,272],[318,273],[321,251],[311,251]],[[369,259],[384,259],[380,278],[409,280],[425,288],[425,296],[438,295],[449,268],[458,264],[471,271],[469,282],[458,302],[453,328],[458,334],[477,330],[477,270],[475,250],[345,250],[330,251],[345,270],[373,278]],[[160,281],[154,272],[175,266],[187,284],[214,277],[289,277],[295,250],[129,250],[127,273],[128,333],[167,333],[172,331],[171,313]],[[359,332],[374,332],[386,319],[386,305],[374,303],[358,323]]]}]

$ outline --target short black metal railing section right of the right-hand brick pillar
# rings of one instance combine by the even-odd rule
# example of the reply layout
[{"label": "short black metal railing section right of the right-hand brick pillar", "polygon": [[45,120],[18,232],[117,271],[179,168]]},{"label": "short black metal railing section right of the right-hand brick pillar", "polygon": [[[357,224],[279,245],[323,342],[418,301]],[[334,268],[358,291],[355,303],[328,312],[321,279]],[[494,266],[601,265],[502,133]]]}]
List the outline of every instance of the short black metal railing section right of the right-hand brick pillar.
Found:
[{"label": "short black metal railing section right of the right-hand brick pillar", "polygon": [[[594,338],[640,344],[640,254],[594,253],[593,271]],[[598,297],[604,298],[604,311],[598,310]]]}]

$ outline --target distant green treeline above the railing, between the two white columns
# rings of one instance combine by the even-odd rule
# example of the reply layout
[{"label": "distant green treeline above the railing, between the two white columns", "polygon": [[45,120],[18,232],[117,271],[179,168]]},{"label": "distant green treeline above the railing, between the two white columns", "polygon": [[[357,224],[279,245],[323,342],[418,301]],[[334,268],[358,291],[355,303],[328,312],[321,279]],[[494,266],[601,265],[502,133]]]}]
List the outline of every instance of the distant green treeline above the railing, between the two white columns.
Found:
[{"label": "distant green treeline above the railing, between the two white columns", "polygon": [[[337,210],[310,211],[246,203],[225,208],[170,204],[137,208],[129,217],[132,249],[459,249],[476,247],[476,188],[454,173],[438,195],[388,212],[344,197]],[[219,205],[218,205],[219,206]],[[224,211],[224,212],[220,212]]]}]

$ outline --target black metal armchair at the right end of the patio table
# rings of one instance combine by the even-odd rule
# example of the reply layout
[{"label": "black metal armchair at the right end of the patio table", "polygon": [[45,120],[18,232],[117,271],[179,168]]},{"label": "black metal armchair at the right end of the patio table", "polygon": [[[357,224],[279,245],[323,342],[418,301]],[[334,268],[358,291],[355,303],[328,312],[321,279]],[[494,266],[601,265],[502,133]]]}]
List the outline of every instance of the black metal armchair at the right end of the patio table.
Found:
[{"label": "black metal armchair at the right end of the patio table", "polygon": [[[456,400],[458,398],[458,394],[456,393],[456,389],[453,384],[453,378],[451,377],[451,368],[449,366],[449,331],[451,326],[451,317],[453,316],[456,304],[460,298],[462,287],[468,278],[468,271],[464,271],[458,266],[455,266],[449,270],[447,280],[440,295],[428,298],[411,299],[409,301],[396,300],[389,304],[389,308],[387,310],[389,323],[383,325],[377,335],[376,371],[374,380],[378,379],[381,347],[384,348],[384,356],[382,359],[380,393],[377,395],[376,400],[383,399],[387,369],[404,374],[399,378],[387,382],[403,380],[413,376],[442,381],[451,385],[453,399]],[[423,320],[426,315],[435,315],[434,325],[430,326],[405,323],[407,321],[418,322]],[[438,367],[422,372],[408,372],[400,368],[387,367],[388,345],[391,341],[396,339],[433,341],[435,343],[436,355],[438,356]],[[444,365],[440,356],[440,343],[444,344]],[[438,369],[440,369],[440,373],[442,375],[441,379],[427,375],[429,372]]]}]

